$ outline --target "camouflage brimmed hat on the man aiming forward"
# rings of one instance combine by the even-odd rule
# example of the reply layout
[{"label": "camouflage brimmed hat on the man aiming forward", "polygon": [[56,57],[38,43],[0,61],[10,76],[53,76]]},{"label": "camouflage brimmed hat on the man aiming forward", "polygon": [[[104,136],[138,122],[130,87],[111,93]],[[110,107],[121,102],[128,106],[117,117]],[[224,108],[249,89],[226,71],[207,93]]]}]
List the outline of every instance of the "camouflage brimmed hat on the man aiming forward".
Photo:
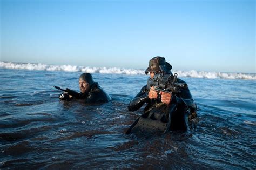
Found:
[{"label": "camouflage brimmed hat on the man aiming forward", "polygon": [[153,71],[163,71],[163,72],[169,72],[172,69],[172,66],[170,63],[165,62],[164,57],[153,57],[149,62],[149,67],[145,70],[145,73],[153,72]]}]

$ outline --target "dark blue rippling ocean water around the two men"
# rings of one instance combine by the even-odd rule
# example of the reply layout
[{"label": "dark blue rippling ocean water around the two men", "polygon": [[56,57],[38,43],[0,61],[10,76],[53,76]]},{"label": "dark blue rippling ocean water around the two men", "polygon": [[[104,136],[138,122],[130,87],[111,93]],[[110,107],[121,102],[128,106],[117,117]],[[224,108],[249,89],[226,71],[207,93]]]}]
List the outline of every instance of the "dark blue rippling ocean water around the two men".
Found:
[{"label": "dark blue rippling ocean water around the two men", "polygon": [[[127,105],[146,84],[143,70],[39,65],[0,62],[1,169],[256,168],[255,74],[173,71],[198,105],[191,131],[126,135],[142,114]],[[78,91],[85,71],[110,103],[58,99],[53,85]]]}]

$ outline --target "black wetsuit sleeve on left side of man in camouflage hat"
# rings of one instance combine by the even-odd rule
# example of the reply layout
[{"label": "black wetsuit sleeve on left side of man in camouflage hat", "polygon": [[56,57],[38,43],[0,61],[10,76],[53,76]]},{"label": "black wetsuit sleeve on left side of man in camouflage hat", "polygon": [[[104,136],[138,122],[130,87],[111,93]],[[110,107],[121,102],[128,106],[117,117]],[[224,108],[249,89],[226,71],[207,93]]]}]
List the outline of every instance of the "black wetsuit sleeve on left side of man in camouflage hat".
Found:
[{"label": "black wetsuit sleeve on left side of man in camouflage hat", "polygon": [[142,87],[140,92],[130,101],[128,106],[129,111],[136,111],[149,100],[149,92],[146,90],[146,85]]}]

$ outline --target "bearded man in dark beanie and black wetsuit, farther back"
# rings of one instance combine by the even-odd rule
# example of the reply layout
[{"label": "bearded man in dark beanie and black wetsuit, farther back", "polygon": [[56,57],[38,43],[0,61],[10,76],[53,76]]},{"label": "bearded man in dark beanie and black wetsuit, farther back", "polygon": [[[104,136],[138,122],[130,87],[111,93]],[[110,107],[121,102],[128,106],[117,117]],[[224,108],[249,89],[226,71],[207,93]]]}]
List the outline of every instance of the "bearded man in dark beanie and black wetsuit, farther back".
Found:
[{"label": "bearded man in dark beanie and black wetsuit, farther back", "polygon": [[107,94],[97,82],[93,81],[90,73],[83,73],[79,77],[80,93],[78,96],[70,96],[67,93],[59,94],[61,100],[73,100],[82,99],[85,103],[98,103],[107,102],[111,100],[109,94]]}]

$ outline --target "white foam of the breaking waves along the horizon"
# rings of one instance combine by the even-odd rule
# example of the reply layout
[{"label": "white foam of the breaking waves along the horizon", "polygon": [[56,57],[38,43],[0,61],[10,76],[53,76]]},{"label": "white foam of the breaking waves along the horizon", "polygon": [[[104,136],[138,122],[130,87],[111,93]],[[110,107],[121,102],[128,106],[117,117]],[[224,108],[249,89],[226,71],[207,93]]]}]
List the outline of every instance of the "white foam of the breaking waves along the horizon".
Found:
[{"label": "white foam of the breaking waves along the horizon", "polygon": [[[32,63],[12,63],[0,62],[0,67],[4,69],[26,69],[26,70],[46,70],[46,71],[67,71],[67,72],[89,72],[103,74],[141,74],[144,75],[142,69],[124,69],[119,67],[88,67],[76,65],[48,65],[48,64],[32,64]],[[205,71],[172,71],[178,73],[179,77],[195,77],[195,78],[223,78],[223,79],[249,79],[256,80],[255,73],[221,73],[221,72],[205,72]]]}]

